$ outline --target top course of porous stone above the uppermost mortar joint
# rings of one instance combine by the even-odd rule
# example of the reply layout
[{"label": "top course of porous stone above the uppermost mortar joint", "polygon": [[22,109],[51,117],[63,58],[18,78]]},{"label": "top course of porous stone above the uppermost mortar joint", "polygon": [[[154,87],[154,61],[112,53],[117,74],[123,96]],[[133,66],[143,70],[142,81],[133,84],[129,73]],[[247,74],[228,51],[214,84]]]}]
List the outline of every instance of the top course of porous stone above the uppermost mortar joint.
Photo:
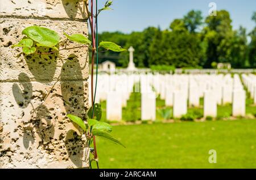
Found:
[{"label": "top course of porous stone above the uppermost mortar joint", "polygon": [[0,15],[43,19],[86,18],[82,0],[1,0]]}]

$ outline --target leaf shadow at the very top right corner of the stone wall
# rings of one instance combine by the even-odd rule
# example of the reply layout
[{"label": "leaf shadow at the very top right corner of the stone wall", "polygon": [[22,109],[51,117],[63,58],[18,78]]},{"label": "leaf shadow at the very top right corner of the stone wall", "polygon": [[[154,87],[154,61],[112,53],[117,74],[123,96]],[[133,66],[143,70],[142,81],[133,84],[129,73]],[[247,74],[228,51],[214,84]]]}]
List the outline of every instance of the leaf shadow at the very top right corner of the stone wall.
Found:
[{"label": "leaf shadow at the very top right corner of the stone wall", "polygon": [[82,18],[86,18],[85,16],[85,8],[80,6],[81,0],[62,0],[63,7],[69,16],[69,18],[75,19],[77,13],[80,11]]}]

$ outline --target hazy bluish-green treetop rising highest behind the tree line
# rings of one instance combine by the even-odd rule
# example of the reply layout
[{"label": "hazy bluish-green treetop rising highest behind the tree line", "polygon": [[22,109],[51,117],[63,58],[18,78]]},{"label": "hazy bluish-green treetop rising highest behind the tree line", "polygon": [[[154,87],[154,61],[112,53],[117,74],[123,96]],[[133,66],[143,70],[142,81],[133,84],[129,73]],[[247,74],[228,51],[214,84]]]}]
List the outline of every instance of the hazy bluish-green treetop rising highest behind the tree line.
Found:
[{"label": "hazy bluish-green treetop rising highest behind the tree line", "polygon": [[201,11],[189,11],[187,15],[184,16],[184,25],[189,32],[195,33],[196,29],[203,24],[203,16]]}]

